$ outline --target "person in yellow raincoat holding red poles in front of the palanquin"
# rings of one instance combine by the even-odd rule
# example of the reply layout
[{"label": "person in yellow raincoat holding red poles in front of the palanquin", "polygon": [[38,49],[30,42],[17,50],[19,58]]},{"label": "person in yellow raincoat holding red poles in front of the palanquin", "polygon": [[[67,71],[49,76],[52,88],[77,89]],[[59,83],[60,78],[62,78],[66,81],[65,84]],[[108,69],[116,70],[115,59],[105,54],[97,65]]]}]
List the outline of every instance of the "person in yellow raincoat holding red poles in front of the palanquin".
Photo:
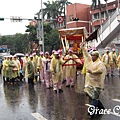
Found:
[{"label": "person in yellow raincoat holding red poles in front of the palanquin", "polygon": [[76,64],[82,64],[82,62],[78,56],[73,53],[72,49],[69,49],[68,52],[68,55],[64,57],[64,60],[69,60],[66,62],[66,87],[74,87],[76,79]]}]

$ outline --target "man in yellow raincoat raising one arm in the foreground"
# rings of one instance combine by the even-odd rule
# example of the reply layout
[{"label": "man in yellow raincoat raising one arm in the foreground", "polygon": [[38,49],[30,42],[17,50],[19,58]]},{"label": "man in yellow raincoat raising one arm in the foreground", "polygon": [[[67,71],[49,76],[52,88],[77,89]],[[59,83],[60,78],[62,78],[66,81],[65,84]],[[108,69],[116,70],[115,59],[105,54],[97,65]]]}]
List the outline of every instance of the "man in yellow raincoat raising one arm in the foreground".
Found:
[{"label": "man in yellow raincoat raising one arm in the foreground", "polygon": [[92,105],[98,109],[104,109],[103,104],[99,100],[99,95],[104,88],[104,80],[106,67],[99,59],[99,52],[93,51],[90,55],[83,46],[83,56],[86,59],[86,77],[88,85],[85,87],[85,92],[92,98]]}]

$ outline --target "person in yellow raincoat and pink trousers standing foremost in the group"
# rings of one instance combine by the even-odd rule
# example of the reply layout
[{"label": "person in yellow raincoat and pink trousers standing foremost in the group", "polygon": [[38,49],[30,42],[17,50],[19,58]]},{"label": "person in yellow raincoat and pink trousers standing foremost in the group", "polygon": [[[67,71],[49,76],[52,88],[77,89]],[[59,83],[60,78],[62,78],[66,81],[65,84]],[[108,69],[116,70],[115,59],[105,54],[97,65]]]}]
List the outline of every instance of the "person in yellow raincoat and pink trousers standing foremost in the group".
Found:
[{"label": "person in yellow raincoat and pink trousers standing foremost in the group", "polygon": [[50,64],[50,71],[52,72],[53,90],[55,93],[63,92],[62,90],[62,64],[64,61],[59,57],[59,53],[54,52],[55,58],[52,58]]}]

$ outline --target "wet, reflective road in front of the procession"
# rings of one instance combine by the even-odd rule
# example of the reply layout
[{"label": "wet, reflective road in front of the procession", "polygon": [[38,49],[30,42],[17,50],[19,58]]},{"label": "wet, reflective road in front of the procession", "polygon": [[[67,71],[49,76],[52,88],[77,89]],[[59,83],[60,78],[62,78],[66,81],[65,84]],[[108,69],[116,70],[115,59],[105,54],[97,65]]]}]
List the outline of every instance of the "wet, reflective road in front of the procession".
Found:
[{"label": "wet, reflective road in front of the procession", "polygon": [[[120,77],[106,77],[105,90],[100,100],[106,109],[120,105]],[[26,82],[15,85],[3,84],[0,79],[0,120],[89,120],[87,109],[89,98],[83,92],[83,75],[78,75],[74,88],[66,88],[64,92],[54,94],[46,89],[44,83],[36,83],[34,87]],[[119,108],[120,106],[118,106]],[[120,109],[116,110],[120,114]],[[37,113],[37,114],[34,114]],[[92,120],[120,120],[120,115],[97,115]],[[37,118],[43,116],[43,118]]]}]

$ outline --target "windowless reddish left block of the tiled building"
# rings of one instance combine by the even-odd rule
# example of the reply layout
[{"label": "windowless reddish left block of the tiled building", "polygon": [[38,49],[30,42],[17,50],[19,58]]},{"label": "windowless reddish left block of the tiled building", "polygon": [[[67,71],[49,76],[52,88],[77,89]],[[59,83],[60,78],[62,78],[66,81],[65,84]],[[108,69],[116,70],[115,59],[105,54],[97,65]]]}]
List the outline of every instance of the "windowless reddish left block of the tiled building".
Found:
[{"label": "windowless reddish left block of the tiled building", "polygon": [[[90,31],[90,5],[75,3],[68,5],[66,8],[66,27],[86,27],[87,31]],[[79,18],[78,21],[72,19]]]}]

